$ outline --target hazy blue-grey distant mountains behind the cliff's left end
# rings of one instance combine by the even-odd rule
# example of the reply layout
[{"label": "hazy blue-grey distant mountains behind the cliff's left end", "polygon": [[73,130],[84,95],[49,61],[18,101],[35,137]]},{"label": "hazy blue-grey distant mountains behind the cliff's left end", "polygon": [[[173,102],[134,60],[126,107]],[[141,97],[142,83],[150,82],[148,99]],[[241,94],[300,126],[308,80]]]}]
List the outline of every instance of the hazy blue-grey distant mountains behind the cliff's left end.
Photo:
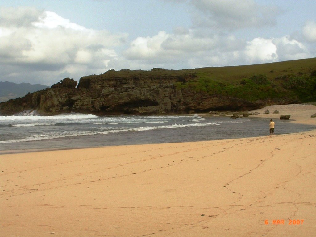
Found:
[{"label": "hazy blue-grey distant mountains behind the cliff's left end", "polygon": [[23,97],[27,93],[43,90],[47,87],[48,86],[41,84],[32,85],[30,83],[16,84],[13,82],[0,82],[0,102]]}]

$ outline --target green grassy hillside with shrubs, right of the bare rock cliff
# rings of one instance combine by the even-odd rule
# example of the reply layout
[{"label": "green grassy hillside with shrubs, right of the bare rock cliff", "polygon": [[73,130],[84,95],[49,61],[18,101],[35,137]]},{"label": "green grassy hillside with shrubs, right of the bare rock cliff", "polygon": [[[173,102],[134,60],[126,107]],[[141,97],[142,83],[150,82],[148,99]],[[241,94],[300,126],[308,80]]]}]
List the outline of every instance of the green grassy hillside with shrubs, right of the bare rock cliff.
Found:
[{"label": "green grassy hillside with shrubs, right of the bare rock cliff", "polygon": [[230,67],[193,69],[196,77],[178,88],[249,101],[297,98],[316,101],[316,58]]}]

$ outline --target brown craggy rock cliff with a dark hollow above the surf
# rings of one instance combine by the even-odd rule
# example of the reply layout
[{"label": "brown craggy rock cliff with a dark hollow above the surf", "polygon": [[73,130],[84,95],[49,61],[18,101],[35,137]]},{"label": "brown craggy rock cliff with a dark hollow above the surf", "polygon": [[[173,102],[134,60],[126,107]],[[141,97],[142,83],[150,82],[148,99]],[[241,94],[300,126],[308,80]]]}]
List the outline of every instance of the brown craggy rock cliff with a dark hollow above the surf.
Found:
[{"label": "brown craggy rock cliff with a dark hollow above the surf", "polygon": [[[109,70],[61,82],[20,99],[0,103],[0,113],[36,110],[44,115],[65,112],[111,114],[171,114],[208,111],[246,111],[279,101],[247,101],[208,94],[182,85],[194,81],[194,70]],[[280,103],[280,102],[279,102]]]}]

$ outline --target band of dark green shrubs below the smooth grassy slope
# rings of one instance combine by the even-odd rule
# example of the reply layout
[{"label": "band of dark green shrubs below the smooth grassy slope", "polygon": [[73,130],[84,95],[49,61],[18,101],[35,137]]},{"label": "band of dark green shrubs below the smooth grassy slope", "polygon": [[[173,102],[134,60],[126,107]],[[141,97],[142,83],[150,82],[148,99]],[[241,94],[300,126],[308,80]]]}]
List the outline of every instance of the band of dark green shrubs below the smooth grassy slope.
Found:
[{"label": "band of dark green shrubs below the smooth grassy slope", "polygon": [[188,82],[175,83],[176,88],[189,88],[213,96],[230,96],[248,101],[297,96],[302,102],[316,101],[316,70],[309,74],[282,75],[270,81],[264,74],[253,74],[241,80],[223,81],[211,74],[198,72]]}]

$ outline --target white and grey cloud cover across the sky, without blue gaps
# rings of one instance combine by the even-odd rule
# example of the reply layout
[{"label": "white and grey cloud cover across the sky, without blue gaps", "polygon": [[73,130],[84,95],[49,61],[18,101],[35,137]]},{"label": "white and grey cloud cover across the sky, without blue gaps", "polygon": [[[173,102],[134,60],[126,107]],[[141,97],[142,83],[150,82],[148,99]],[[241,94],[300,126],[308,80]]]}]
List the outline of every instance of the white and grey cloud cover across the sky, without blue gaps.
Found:
[{"label": "white and grey cloud cover across the sky, without blue gaps", "polygon": [[[152,35],[139,32],[131,38],[133,29],[86,28],[50,9],[0,7],[0,81],[52,85],[64,77],[79,80],[109,69],[182,69],[316,57],[315,18],[305,19],[281,37],[266,37],[259,34],[260,29],[280,24],[284,14],[273,4],[252,0],[161,4],[187,9],[191,24],[170,22],[172,30],[157,29]],[[247,38],[241,30],[259,33]]]}]

